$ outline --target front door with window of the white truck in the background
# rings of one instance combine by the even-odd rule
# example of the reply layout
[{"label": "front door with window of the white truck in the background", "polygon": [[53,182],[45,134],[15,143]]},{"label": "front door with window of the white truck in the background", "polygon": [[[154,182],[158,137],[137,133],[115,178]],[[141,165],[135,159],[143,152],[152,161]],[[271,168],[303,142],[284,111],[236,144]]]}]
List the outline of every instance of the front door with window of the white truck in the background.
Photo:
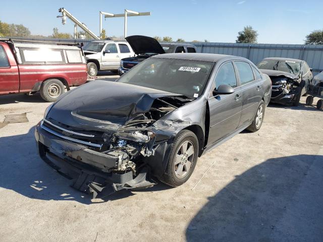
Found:
[{"label": "front door with window of the white truck in the background", "polygon": [[115,43],[108,43],[102,51],[102,70],[117,70],[120,66],[120,53]]}]

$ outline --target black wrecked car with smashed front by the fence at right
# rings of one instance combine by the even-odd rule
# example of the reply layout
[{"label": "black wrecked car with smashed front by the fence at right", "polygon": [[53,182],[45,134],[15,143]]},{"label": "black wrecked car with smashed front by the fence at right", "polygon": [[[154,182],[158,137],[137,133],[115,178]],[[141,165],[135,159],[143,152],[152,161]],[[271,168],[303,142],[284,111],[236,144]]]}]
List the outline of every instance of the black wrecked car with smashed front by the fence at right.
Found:
[{"label": "black wrecked car with smashed front by the fence at right", "polygon": [[264,58],[257,67],[273,82],[272,102],[297,106],[313,79],[311,69],[300,59]]}]

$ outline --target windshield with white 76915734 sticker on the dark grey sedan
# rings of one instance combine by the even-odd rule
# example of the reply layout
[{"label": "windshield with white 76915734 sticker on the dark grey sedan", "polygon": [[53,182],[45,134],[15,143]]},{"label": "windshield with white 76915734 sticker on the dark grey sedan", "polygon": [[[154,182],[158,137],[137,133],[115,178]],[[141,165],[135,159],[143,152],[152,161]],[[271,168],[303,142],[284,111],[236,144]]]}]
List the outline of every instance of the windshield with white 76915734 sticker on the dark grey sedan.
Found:
[{"label": "windshield with white 76915734 sticker on the dark grey sedan", "polygon": [[117,82],[196,98],[202,94],[213,65],[212,62],[185,59],[148,58]]}]

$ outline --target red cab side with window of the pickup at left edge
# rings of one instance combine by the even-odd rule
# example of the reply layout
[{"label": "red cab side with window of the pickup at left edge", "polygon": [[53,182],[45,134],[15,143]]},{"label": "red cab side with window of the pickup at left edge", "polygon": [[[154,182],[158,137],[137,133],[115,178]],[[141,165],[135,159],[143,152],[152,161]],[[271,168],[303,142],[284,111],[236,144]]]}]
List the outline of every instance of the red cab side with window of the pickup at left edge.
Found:
[{"label": "red cab side with window of the pickup at left edge", "polygon": [[8,44],[0,43],[0,94],[11,92],[19,92],[19,70]]}]

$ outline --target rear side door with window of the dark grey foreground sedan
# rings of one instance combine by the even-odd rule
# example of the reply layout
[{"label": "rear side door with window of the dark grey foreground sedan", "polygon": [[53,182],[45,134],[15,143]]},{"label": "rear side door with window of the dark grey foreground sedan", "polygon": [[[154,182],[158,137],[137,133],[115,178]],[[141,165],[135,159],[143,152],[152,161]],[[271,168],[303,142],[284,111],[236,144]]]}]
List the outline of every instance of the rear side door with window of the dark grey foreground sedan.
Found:
[{"label": "rear side door with window of the dark grey foreground sedan", "polygon": [[[235,61],[234,65],[239,77],[242,92],[242,111],[239,127],[251,122],[253,119],[258,103],[262,96],[262,80],[261,75],[253,74],[253,70],[249,63],[243,61]],[[257,71],[254,69],[254,71]]]}]

